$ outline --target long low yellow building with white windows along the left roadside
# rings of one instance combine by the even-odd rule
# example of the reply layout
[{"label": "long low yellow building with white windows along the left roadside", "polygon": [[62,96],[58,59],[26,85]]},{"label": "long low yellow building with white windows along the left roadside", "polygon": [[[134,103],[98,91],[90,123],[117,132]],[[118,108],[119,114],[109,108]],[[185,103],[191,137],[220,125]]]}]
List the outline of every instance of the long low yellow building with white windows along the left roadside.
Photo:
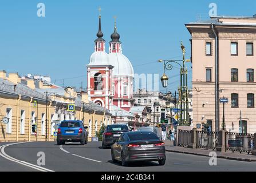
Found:
[{"label": "long low yellow building with white windows along the left roadside", "polygon": [[[83,120],[88,126],[89,140],[103,123],[111,124],[111,113],[88,101],[86,93],[77,93],[72,87],[52,88],[18,73],[0,71],[0,142],[54,141],[54,132],[62,120]],[[42,87],[36,87],[42,86]],[[46,94],[48,112],[46,122]],[[68,112],[67,104],[75,104]],[[3,119],[9,119],[5,124]],[[36,125],[36,130],[33,127]]]}]

